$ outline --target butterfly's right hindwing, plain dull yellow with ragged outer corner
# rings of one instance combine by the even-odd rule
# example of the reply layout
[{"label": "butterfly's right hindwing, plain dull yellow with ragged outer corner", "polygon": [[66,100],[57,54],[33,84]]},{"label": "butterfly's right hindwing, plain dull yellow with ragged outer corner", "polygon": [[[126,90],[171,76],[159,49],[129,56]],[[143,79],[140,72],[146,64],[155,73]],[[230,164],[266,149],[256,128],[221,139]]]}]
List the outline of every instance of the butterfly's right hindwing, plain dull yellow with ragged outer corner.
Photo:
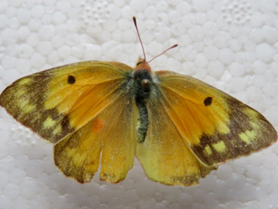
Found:
[{"label": "butterfly's right hindwing, plain dull yellow with ragged outer corner", "polygon": [[136,156],[153,181],[169,185],[197,184],[215,167],[198,160],[158,98],[149,100],[148,132],[145,141],[137,144]]}]

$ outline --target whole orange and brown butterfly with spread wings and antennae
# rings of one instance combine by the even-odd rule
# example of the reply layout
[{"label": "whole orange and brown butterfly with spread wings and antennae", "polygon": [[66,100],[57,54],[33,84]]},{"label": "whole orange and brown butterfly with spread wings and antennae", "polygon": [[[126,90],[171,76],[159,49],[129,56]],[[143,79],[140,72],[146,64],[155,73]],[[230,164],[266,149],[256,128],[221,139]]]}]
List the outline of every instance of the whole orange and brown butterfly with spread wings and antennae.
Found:
[{"label": "whole orange and brown butterfly with spread wings and antennae", "polygon": [[52,68],[13,82],[0,105],[54,144],[56,166],[79,183],[90,182],[99,164],[100,180],[118,183],[136,156],[149,179],[193,185],[277,141],[274,127],[250,106],[148,63],[144,52],[135,68],[109,61]]}]

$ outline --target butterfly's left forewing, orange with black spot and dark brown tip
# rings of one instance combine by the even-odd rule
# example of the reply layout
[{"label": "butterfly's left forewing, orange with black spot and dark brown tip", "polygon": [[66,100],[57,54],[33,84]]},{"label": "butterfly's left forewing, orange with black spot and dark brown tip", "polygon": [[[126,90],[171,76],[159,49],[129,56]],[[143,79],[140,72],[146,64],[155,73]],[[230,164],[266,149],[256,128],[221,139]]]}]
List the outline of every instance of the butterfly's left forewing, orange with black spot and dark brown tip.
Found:
[{"label": "butterfly's left forewing, orange with black spot and dark brown tip", "polygon": [[123,92],[132,69],[117,62],[86,61],[21,78],[0,95],[0,105],[51,143],[87,124]]}]

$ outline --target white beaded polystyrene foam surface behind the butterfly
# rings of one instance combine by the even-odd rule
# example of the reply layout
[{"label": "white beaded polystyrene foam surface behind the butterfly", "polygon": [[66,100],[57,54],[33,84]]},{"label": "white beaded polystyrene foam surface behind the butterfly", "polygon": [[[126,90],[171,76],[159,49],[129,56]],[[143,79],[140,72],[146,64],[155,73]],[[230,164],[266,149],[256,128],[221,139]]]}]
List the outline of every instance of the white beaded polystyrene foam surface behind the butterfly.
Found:
[{"label": "white beaded polystyrene foam surface behind the butterfly", "polygon": [[[22,76],[81,60],[151,63],[192,75],[278,128],[278,0],[0,0],[0,92]],[[81,185],[54,166],[52,146],[0,108],[0,208],[277,209],[278,145],[228,162],[191,187],[148,180]]]}]

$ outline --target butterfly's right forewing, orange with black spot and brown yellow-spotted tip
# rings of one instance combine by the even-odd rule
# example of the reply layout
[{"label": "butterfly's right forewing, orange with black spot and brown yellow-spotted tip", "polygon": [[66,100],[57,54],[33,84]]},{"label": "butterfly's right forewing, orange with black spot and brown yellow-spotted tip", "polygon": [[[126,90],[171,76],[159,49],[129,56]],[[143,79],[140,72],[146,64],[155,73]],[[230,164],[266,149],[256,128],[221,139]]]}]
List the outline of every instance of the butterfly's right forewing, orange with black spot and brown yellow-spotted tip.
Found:
[{"label": "butterfly's right forewing, orange with black spot and brown yellow-spotted tip", "polygon": [[173,72],[157,76],[162,108],[206,165],[250,155],[277,141],[276,130],[264,116],[226,93]]}]

